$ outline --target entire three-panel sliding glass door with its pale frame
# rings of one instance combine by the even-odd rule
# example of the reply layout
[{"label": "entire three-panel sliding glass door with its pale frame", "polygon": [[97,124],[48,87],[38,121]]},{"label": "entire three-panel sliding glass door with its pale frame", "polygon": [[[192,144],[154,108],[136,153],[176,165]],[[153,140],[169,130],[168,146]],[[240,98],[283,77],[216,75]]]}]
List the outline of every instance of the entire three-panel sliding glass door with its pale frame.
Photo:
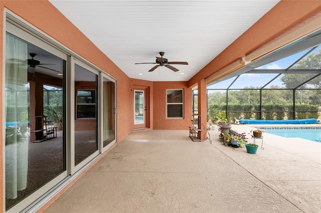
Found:
[{"label": "entire three-panel sliding glass door with its pale frame", "polygon": [[115,144],[116,80],[11,18],[4,38],[2,210],[20,212],[51,197]]}]

